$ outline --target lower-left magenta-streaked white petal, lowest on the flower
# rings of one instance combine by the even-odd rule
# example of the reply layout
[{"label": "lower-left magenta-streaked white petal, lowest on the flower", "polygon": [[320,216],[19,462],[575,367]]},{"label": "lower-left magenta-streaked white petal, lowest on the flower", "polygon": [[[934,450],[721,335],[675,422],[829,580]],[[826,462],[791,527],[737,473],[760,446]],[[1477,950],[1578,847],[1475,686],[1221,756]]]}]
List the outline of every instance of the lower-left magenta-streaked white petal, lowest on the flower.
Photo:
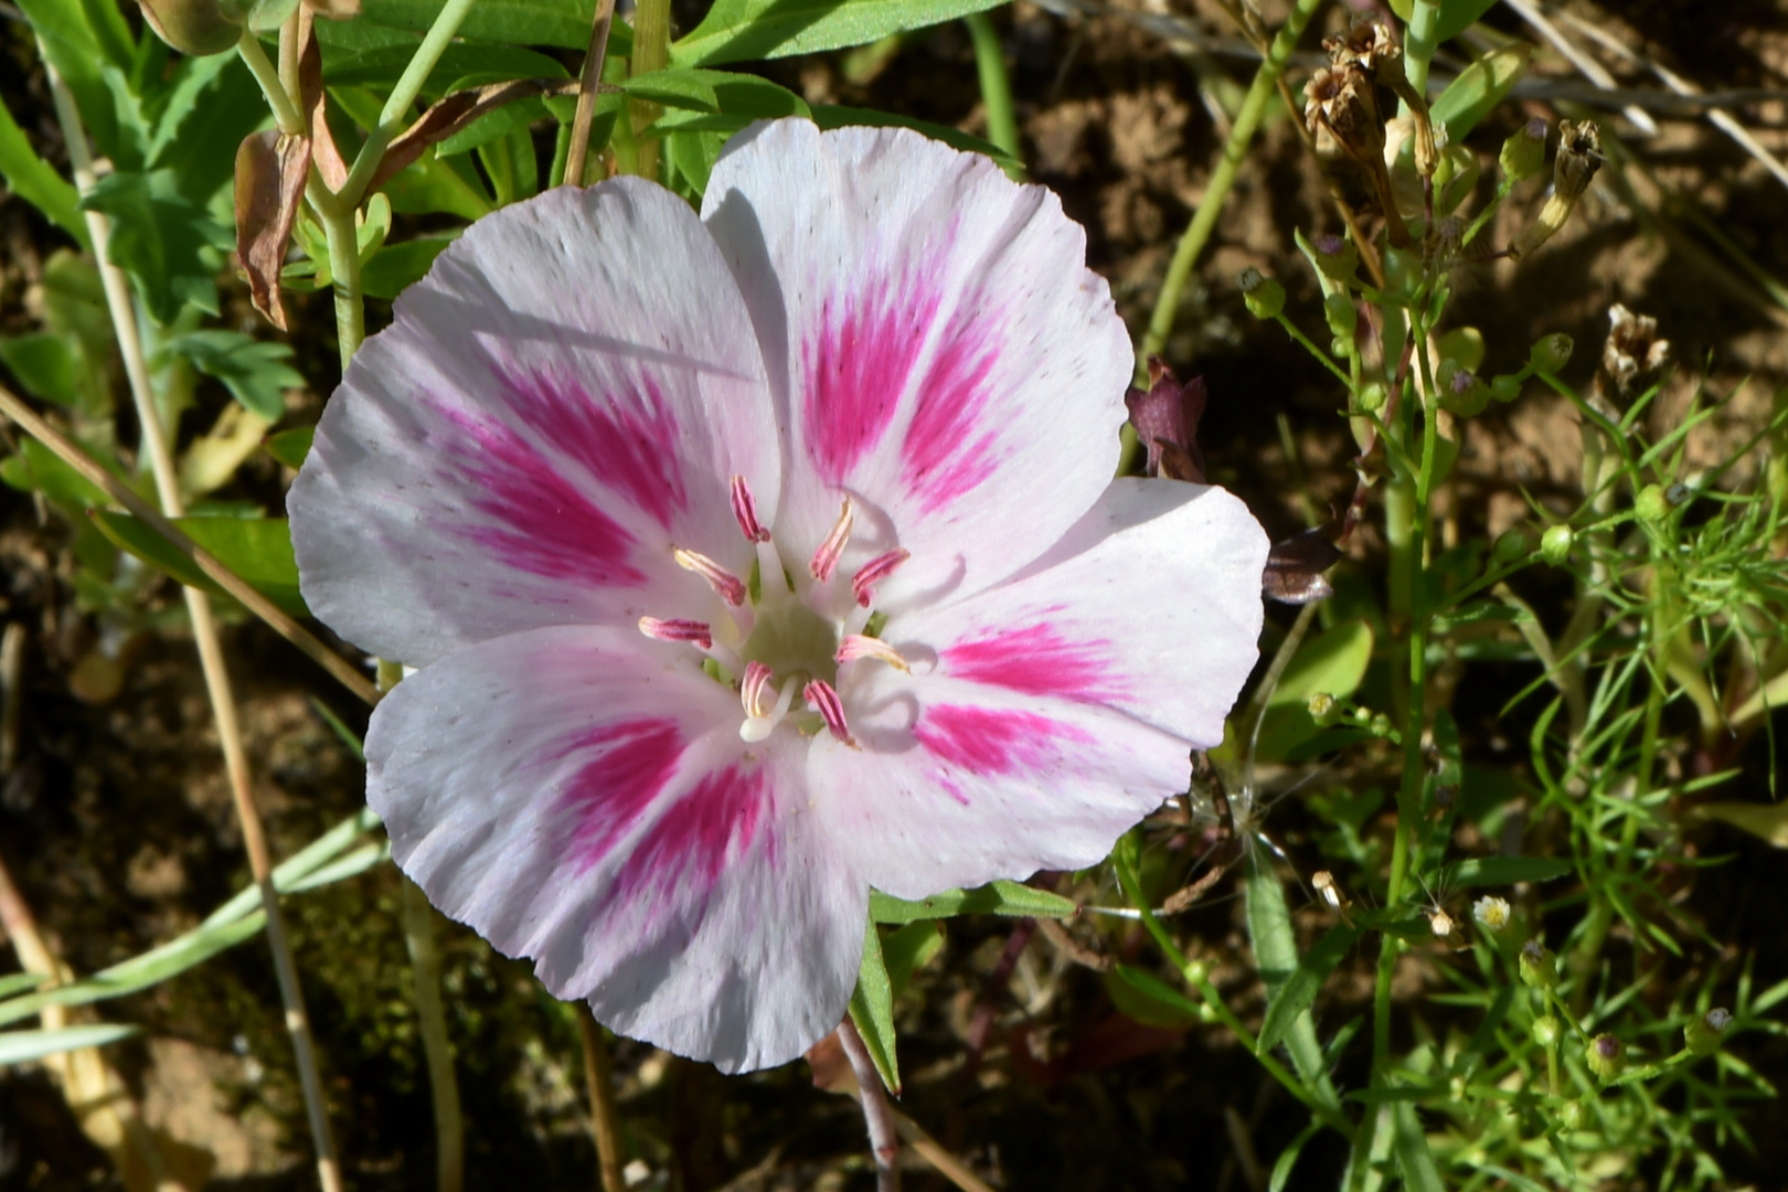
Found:
[{"label": "lower-left magenta-streaked white petal, lowest on the flower", "polygon": [[799,751],[629,631],[449,654],[374,711],[367,799],[447,915],[560,997],[726,1070],[781,1063],[849,1001],[867,888],[817,831]]}]

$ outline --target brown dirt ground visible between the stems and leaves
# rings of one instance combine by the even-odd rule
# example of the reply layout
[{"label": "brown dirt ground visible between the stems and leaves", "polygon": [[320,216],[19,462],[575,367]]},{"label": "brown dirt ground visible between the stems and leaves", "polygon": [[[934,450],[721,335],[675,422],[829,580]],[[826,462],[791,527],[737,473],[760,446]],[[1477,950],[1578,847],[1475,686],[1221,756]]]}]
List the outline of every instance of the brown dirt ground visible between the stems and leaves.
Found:
[{"label": "brown dirt ground visible between the stems and leaves", "polygon": [[[1173,16],[1232,39],[1219,9],[1205,0],[1075,4],[1069,9],[1064,0],[1062,13],[1071,13],[1064,16],[1021,0],[996,20],[1007,36],[1032,175],[1057,189],[1087,227],[1092,268],[1110,279],[1130,325],[1143,327],[1227,132],[1214,97],[1246,86],[1252,64],[1164,39],[1139,20]],[[701,5],[685,7],[687,29]],[[1284,4],[1262,9],[1277,23]],[[1572,0],[1564,9],[1700,88],[1775,89],[1777,98],[1742,104],[1734,116],[1772,152],[1788,155],[1788,104],[1779,98],[1788,88],[1788,7],[1779,0],[1734,0],[1713,5],[1713,16],[1697,0]],[[1336,27],[1345,9],[1332,5],[1320,21]],[[1513,13],[1498,11],[1491,21],[1532,36]],[[1314,34],[1305,38],[1314,43]],[[0,95],[16,113],[39,118],[32,132],[54,157],[48,105],[21,25],[0,18]],[[1556,59],[1541,55],[1539,63],[1545,79],[1572,77]],[[1609,63],[1622,84],[1659,91],[1643,70]],[[958,27],[908,38],[880,64],[828,55],[776,63],[765,73],[815,102],[898,109],[973,132],[985,123],[971,46]],[[1559,111],[1577,109],[1543,98],[1507,104],[1470,143],[1489,161],[1520,122]],[[1679,361],[1656,424],[1681,418],[1697,393],[1725,402],[1695,445],[1697,457],[1713,459],[1759,425],[1788,382],[1788,311],[1745,268],[1788,277],[1788,188],[1706,120],[1659,113],[1659,134],[1641,138],[1613,111],[1597,118],[1638,163],[1625,172],[1632,193],[1604,179],[1545,250],[1520,264],[1473,266],[1459,282],[1455,322],[1482,331],[1486,372],[1518,366],[1541,334],[1568,332],[1579,345],[1568,379],[1584,381],[1613,302],[1656,316]],[[1538,188],[1523,189],[1495,238],[1509,239],[1538,204]],[[1259,266],[1284,281],[1295,318],[1321,325],[1320,295],[1296,257],[1293,229],[1337,231],[1339,220],[1293,125],[1271,120],[1168,348],[1180,375],[1207,379],[1202,440],[1214,479],[1236,488],[1275,538],[1302,529],[1302,493],[1321,511],[1345,504],[1354,488],[1336,384],[1277,327],[1253,320],[1234,282],[1243,266]],[[61,239],[18,200],[0,200],[0,332],[13,334],[30,329],[29,288]],[[243,311],[238,293],[234,315],[247,320]],[[299,425],[315,420],[320,395],[338,377],[325,306],[300,300],[295,316],[297,365],[313,388],[288,416]],[[224,400],[222,391],[202,391],[204,407],[190,429]],[[1280,445],[1280,420],[1295,461]],[[131,441],[134,431],[122,425],[120,438]],[[1568,404],[1536,395],[1472,422],[1452,493],[1461,533],[1505,529],[1525,509],[1523,491],[1563,500],[1577,483],[1575,441]],[[283,483],[272,459],[256,459],[232,495],[277,508]],[[109,642],[107,649],[122,647],[118,690],[93,699],[79,674],[104,625],[75,608],[68,541],[68,527],[54,515],[39,520],[29,499],[0,490],[0,620],[27,633],[20,747],[0,776],[0,856],[63,958],[91,972],[197,924],[247,872],[190,636],[170,629]],[[1370,533],[1355,541],[1362,574],[1382,570],[1373,563],[1377,549]],[[172,584],[150,599],[179,604]],[[313,699],[356,729],[365,717],[259,625],[229,629],[227,649],[256,795],[284,854],[361,799],[361,770]],[[1495,724],[1498,702],[1489,695],[1461,701],[1468,751],[1488,751],[1497,733],[1511,731]],[[1295,799],[1282,808],[1278,829],[1296,863],[1305,817]],[[1759,986],[1788,976],[1783,856],[1736,833],[1709,833],[1702,844],[1706,854],[1734,863],[1693,886],[1691,913],[1734,954],[1758,953]],[[427,1081],[395,906],[390,869],[291,901],[334,1122],[361,1188],[424,1188],[433,1179]],[[1209,954],[1227,965],[1219,981],[1241,995],[1250,976],[1237,906],[1219,899],[1191,922]],[[493,956],[445,922],[442,938],[472,1124],[468,1185],[590,1187],[594,1156],[572,1017],[533,983],[526,965]],[[1143,940],[1121,945],[1141,949]],[[1008,949],[1016,960],[1007,961],[1007,979],[991,981]],[[0,974],[11,965],[0,958]],[[1302,1124],[1291,1112],[1296,1106],[1275,1095],[1221,1031],[1123,1019],[1096,974],[1042,938],[1014,942],[1010,924],[951,924],[944,963],[921,981],[923,1012],[901,1024],[910,1072],[903,1108],[1001,1187],[1239,1188],[1225,1110],[1248,1121],[1268,1162]],[[1400,995],[1414,995],[1423,981],[1420,965],[1413,967]],[[1348,992],[1336,997],[1345,1006]],[[118,1063],[154,1124],[213,1153],[211,1187],[313,1187],[277,1006],[272,965],[257,940],[104,1006],[107,1019],[145,1028],[141,1040],[114,1049]],[[978,1015],[991,1029],[976,1026]],[[971,1056],[964,1040],[976,1031],[987,1045]],[[1777,1085],[1788,1081],[1781,1040],[1756,1044],[1747,1060]],[[617,1070],[629,1129],[653,1154],[678,1156],[672,1187],[869,1187],[860,1163],[848,1167],[864,1149],[855,1104],[814,1090],[805,1065],[724,1079],[620,1042]],[[1761,1117],[1756,1128],[1758,1151],[1733,1147],[1731,1171],[1734,1179],[1772,1187],[1788,1169],[1788,1137]],[[1300,1171],[1327,1165],[1332,1172],[1337,1162],[1339,1153],[1318,1149]],[[1230,1174],[1221,1183],[1225,1163]],[[1640,1188],[1647,1178],[1629,1172],[1606,1187]],[[1309,1187],[1323,1183],[1332,1176]],[[914,1185],[944,1187],[935,1179]],[[46,1078],[0,1074],[0,1190],[91,1187],[116,1185]]]}]

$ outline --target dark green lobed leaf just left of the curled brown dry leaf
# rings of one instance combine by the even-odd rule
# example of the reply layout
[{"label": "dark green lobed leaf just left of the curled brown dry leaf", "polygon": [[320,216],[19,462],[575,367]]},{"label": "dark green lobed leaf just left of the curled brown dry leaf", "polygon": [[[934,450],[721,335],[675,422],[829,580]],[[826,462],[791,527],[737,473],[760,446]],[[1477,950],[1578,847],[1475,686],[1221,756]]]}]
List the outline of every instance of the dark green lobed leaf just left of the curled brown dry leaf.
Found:
[{"label": "dark green lobed leaf just left of the curled brown dry leaf", "polygon": [[129,273],[157,323],[166,327],[186,306],[218,313],[213,250],[231,248],[236,238],[181,195],[172,170],[111,173],[80,206],[113,218],[107,256]]}]

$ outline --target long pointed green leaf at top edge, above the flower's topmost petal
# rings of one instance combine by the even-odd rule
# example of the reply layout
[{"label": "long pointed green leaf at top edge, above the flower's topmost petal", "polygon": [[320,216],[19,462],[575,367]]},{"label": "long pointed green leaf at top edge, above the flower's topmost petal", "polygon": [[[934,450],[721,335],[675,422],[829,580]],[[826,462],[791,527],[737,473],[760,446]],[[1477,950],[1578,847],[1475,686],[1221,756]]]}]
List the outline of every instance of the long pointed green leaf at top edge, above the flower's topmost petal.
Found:
[{"label": "long pointed green leaf at top edge, above the flower's topmost petal", "polygon": [[715,0],[670,46],[678,66],[817,54],[985,13],[999,0]]}]

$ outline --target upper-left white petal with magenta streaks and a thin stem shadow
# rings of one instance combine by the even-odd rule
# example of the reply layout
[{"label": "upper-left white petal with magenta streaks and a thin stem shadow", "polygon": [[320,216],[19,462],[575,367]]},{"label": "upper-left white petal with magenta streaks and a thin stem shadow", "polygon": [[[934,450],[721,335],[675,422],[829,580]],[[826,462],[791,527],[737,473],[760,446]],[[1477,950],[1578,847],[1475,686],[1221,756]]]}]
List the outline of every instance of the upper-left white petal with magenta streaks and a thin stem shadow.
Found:
[{"label": "upper-left white petal with magenta streaks and a thin stem shadow", "polygon": [[637,179],[558,188],[467,229],[356,354],[288,497],[304,599],[406,663],[706,620],[670,547],[751,568],[733,474],[774,516],[762,357],[712,238]]}]

